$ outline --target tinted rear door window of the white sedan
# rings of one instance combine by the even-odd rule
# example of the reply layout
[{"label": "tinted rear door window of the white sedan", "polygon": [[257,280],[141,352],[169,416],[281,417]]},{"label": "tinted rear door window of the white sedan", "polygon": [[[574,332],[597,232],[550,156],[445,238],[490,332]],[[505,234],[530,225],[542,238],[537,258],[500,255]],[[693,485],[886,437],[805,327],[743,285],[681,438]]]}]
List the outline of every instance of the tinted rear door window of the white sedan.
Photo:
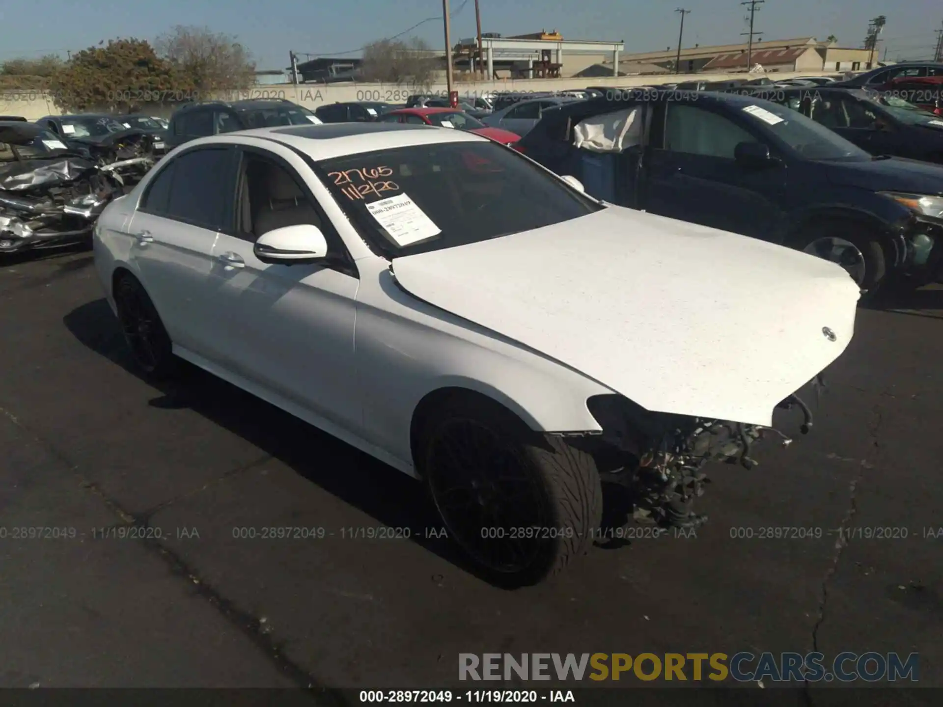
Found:
[{"label": "tinted rear door window of the white sedan", "polygon": [[227,192],[231,191],[229,149],[193,150],[176,157],[170,199],[162,214],[174,221],[222,230],[228,223]]}]

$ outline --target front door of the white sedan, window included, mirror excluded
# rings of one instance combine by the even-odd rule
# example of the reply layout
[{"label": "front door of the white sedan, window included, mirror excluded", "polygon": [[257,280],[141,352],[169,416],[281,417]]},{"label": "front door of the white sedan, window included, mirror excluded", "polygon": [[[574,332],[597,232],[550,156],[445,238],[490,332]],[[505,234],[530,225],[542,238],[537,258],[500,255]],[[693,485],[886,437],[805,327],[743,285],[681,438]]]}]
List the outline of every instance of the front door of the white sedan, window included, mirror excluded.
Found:
[{"label": "front door of the white sedan, window included, mirror excluded", "polygon": [[[217,313],[210,331],[223,365],[358,432],[356,267],[299,173],[316,178],[304,162],[243,145],[240,156],[233,224],[216,239],[210,277]],[[300,223],[322,229],[329,264],[274,265],[256,257],[258,236]]]}]

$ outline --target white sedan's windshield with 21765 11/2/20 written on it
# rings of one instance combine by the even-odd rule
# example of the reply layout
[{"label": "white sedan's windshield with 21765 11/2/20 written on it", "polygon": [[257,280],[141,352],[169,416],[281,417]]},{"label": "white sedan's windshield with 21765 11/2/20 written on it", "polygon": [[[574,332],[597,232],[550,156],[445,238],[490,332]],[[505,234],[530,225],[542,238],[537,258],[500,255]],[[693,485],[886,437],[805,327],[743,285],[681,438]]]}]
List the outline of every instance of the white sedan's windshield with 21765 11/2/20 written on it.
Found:
[{"label": "white sedan's windshield with 21765 11/2/20 written on it", "polygon": [[493,142],[398,147],[317,167],[363,238],[388,257],[500,238],[603,208]]}]

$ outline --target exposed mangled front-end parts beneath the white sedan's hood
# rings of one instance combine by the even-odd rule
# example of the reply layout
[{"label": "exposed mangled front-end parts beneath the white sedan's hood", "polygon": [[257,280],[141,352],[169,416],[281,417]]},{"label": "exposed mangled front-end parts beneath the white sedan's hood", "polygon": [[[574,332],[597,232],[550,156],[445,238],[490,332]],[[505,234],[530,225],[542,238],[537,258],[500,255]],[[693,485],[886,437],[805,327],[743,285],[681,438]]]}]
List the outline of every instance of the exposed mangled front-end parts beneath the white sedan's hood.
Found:
[{"label": "exposed mangled front-end parts beneath the white sedan's hood", "polygon": [[[824,385],[820,376],[812,383],[817,393]],[[812,412],[798,395],[777,407],[801,410],[802,434],[811,430]],[[653,413],[620,395],[593,396],[587,408],[603,433],[571,443],[593,455],[604,485],[623,491],[620,509],[606,512],[608,527],[633,520],[664,528],[699,527],[707,518],[694,512],[693,503],[710,483],[705,465],[720,462],[753,469],[755,442],[767,437],[783,446],[792,442],[773,427]]]}]

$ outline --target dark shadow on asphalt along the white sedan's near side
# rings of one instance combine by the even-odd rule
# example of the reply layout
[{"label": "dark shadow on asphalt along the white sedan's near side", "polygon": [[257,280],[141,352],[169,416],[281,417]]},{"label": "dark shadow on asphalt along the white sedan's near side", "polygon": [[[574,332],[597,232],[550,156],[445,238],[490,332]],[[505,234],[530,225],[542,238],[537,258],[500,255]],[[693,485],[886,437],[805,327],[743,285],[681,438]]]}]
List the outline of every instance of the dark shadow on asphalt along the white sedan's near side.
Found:
[{"label": "dark shadow on asphalt along the white sedan's near side", "polygon": [[[435,529],[438,534],[441,521],[420,482],[186,362],[181,362],[173,382],[155,383],[145,378],[128,354],[118,321],[105,299],[77,307],[63,323],[93,352],[156,387],[160,395],[149,401],[150,406],[189,408],[380,523],[409,528],[410,539],[422,548],[487,581],[448,539],[427,533]],[[312,454],[315,448],[318,453]]]}]

